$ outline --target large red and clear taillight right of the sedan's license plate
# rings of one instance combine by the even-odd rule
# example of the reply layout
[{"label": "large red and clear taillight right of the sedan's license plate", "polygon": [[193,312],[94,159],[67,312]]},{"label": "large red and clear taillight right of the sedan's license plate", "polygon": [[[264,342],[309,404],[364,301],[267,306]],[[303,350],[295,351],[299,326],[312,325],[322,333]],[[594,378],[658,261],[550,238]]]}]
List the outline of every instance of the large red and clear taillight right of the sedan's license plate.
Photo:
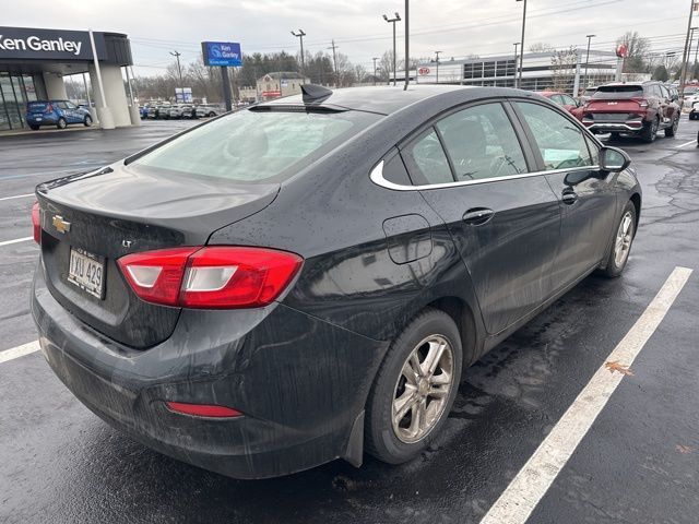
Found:
[{"label": "large red and clear taillight right of the sedan's license plate", "polygon": [[298,272],[303,259],[264,248],[176,248],[119,259],[143,300],[198,309],[254,308],[271,303]]}]

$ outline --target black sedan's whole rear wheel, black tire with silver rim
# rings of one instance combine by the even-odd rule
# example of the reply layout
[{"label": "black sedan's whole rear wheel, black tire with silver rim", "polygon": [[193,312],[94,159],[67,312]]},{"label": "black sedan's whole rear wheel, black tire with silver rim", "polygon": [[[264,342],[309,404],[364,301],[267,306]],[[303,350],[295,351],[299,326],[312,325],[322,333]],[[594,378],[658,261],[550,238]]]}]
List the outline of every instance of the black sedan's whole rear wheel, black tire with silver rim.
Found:
[{"label": "black sedan's whole rear wheel, black tire with silver rim", "polygon": [[457,397],[462,358],[459,329],[447,313],[427,309],[411,321],[389,347],[369,393],[369,454],[401,464],[430,444]]}]

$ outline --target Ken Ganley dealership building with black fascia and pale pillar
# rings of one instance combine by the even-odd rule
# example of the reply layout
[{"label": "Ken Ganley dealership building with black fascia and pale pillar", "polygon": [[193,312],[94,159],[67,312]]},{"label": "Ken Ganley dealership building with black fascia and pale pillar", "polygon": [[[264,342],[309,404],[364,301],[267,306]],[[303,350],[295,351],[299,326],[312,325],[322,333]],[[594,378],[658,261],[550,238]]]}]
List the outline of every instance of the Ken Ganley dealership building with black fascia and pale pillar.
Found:
[{"label": "Ken Ganley dealership building with black fascia and pale pillar", "polygon": [[0,27],[0,131],[27,127],[27,102],[68,98],[63,78],[73,74],[90,76],[91,112],[103,128],[139,124],[122,76],[132,64],[123,34]]}]

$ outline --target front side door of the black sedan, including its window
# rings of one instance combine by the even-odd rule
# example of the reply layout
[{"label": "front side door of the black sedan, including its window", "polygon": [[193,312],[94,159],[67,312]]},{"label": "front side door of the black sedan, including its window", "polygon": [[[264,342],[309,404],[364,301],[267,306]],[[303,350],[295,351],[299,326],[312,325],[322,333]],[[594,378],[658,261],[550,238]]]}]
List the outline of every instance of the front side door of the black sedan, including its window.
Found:
[{"label": "front side door of the black sedan, including its window", "polygon": [[562,229],[552,273],[558,289],[602,262],[616,213],[615,176],[600,169],[600,145],[567,115],[535,102],[513,107],[560,201]]}]

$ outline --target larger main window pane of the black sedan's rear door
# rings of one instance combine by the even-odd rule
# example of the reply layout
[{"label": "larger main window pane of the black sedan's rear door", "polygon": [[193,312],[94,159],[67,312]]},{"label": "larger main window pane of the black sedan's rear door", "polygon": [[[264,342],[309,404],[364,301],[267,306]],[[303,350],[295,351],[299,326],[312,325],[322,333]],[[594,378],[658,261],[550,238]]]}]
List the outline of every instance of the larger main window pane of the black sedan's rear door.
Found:
[{"label": "larger main window pane of the black sedan's rear door", "polygon": [[437,123],[458,181],[526,172],[522,147],[500,104],[454,112]]}]

